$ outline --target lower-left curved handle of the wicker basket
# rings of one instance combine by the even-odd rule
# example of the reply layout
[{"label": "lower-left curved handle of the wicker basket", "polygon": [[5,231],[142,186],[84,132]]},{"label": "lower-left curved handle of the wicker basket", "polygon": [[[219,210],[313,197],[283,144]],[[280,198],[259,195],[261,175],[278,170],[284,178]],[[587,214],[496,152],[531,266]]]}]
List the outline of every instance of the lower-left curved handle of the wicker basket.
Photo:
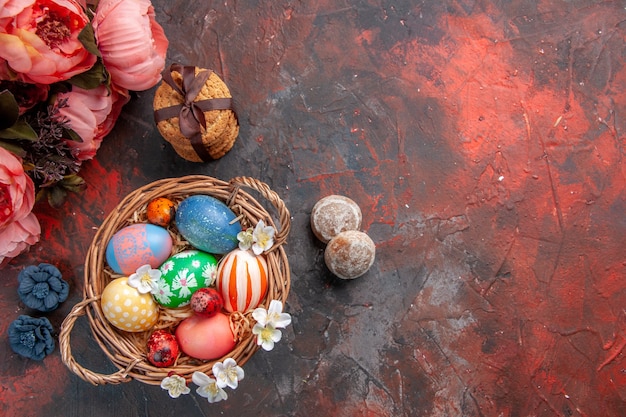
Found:
[{"label": "lower-left curved handle of the wicker basket", "polygon": [[132,362],[126,369],[120,369],[118,372],[106,375],[99,374],[82,367],[72,356],[70,333],[74,328],[74,323],[76,323],[78,317],[85,315],[87,306],[97,300],[98,298],[84,299],[80,303],[76,304],[67,317],[65,317],[65,320],[63,320],[63,324],[61,324],[61,330],[59,332],[59,349],[61,350],[61,358],[63,363],[72,372],[92,385],[119,384],[122,382],[128,382],[132,380],[132,378],[128,376],[128,372],[133,366],[136,365],[137,362],[139,362],[139,360],[137,362]]}]

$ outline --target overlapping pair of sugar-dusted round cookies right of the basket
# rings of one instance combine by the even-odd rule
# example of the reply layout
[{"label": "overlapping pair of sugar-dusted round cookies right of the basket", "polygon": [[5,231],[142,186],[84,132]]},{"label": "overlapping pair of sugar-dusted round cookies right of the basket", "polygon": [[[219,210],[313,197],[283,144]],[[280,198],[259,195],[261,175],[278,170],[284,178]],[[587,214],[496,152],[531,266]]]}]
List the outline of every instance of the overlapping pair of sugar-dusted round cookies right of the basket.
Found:
[{"label": "overlapping pair of sugar-dusted round cookies right of the basket", "polygon": [[326,243],[324,262],[334,275],[354,279],[365,274],[376,256],[372,239],[359,231],[363,215],[350,198],[329,195],[311,211],[311,230]]}]

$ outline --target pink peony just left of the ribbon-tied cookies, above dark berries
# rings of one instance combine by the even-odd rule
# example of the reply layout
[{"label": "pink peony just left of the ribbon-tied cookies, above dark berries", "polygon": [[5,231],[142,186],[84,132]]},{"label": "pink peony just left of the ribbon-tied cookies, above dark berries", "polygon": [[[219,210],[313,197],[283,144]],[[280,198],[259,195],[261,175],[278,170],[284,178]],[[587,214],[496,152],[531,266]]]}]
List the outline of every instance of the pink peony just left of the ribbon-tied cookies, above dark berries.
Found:
[{"label": "pink peony just left of the ribbon-tied cookies, above dark berries", "polygon": [[71,129],[83,140],[66,141],[70,147],[78,149],[80,161],[96,155],[102,139],[113,129],[129,98],[128,91],[114,88],[109,93],[104,85],[91,90],[74,87],[72,91],[57,96],[57,102],[67,99],[67,107],[59,108],[59,113],[69,120]]}]

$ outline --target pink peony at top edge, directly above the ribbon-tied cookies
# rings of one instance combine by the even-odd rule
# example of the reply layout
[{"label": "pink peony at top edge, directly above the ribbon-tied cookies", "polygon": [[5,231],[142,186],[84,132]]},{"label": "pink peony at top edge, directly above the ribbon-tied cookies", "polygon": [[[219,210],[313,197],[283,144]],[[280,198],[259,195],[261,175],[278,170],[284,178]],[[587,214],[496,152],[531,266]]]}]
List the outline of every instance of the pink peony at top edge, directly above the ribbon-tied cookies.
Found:
[{"label": "pink peony at top edge, directly above the ribbon-tied cookies", "polygon": [[114,84],[141,91],[161,80],[168,41],[150,0],[101,0],[93,29]]}]

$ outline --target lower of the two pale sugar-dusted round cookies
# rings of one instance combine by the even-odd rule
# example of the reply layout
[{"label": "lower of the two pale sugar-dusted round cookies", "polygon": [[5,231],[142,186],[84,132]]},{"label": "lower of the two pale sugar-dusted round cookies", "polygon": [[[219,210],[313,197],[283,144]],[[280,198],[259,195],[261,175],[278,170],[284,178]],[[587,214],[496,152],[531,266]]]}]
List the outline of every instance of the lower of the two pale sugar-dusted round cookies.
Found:
[{"label": "lower of the two pale sugar-dusted round cookies", "polygon": [[365,274],[376,257],[376,245],[365,233],[348,230],[333,237],[324,251],[326,266],[342,279]]}]

